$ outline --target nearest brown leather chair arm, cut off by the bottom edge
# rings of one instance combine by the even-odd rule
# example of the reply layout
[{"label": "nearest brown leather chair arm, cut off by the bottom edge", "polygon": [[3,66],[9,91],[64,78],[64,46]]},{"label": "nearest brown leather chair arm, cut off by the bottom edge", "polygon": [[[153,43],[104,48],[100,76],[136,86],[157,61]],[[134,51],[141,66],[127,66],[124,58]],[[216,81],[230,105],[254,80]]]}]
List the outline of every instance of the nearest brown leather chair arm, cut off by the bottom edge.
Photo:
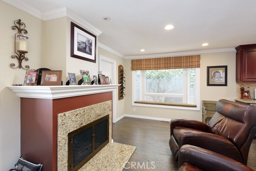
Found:
[{"label": "nearest brown leather chair arm, cut off by the bottom edge", "polygon": [[178,159],[179,171],[253,171],[229,157],[192,145],[183,145]]}]

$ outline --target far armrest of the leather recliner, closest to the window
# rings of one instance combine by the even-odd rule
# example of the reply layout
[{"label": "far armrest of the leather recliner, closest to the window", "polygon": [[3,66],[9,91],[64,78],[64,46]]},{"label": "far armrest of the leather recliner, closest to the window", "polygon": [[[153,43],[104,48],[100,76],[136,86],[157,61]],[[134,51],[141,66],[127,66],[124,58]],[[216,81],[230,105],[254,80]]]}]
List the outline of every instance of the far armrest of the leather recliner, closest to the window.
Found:
[{"label": "far armrest of the leather recliner, closest to the window", "polygon": [[190,119],[172,119],[170,124],[171,136],[175,126],[189,127],[202,131],[208,131],[209,126],[201,121],[190,120]]}]

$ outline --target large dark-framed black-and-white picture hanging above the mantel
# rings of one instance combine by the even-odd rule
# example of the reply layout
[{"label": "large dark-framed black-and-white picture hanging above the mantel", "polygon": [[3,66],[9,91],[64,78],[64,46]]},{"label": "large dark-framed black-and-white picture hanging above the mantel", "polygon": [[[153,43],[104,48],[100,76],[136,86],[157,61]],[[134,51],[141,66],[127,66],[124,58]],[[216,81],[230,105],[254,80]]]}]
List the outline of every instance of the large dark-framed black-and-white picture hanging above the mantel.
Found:
[{"label": "large dark-framed black-and-white picture hanging above the mantel", "polygon": [[97,37],[71,22],[71,57],[96,63]]}]

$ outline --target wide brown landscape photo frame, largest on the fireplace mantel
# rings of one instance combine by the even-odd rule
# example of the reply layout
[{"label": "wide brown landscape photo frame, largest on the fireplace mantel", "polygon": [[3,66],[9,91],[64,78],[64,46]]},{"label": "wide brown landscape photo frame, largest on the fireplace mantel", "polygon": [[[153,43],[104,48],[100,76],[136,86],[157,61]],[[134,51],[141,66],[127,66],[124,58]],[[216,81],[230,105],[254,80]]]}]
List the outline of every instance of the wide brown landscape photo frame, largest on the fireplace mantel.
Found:
[{"label": "wide brown landscape photo frame, largest on the fireplace mantel", "polygon": [[41,85],[61,85],[62,71],[42,71]]}]

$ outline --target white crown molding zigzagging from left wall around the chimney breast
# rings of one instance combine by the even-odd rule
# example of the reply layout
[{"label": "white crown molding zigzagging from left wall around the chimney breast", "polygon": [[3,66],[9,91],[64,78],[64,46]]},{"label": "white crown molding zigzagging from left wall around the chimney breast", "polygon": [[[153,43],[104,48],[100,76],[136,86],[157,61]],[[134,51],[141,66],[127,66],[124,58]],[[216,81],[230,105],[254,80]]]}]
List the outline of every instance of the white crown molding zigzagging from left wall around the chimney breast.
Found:
[{"label": "white crown molding zigzagging from left wall around the chimney breast", "polygon": [[60,8],[57,10],[52,10],[49,12],[40,12],[36,8],[22,3],[19,0],[2,0],[12,6],[15,6],[16,8],[27,12],[28,14],[31,14],[32,16],[35,16],[41,20],[47,21],[47,20],[52,20],[60,17],[68,17],[74,22],[77,22],[80,24],[82,27],[84,27],[86,30],[92,32],[96,36],[99,36],[102,34],[102,31],[100,31],[98,28],[94,27],[92,24],[90,24],[88,21],[84,20],[82,17],[78,16],[77,14],[74,14],[70,10],[68,10],[66,7]]}]

